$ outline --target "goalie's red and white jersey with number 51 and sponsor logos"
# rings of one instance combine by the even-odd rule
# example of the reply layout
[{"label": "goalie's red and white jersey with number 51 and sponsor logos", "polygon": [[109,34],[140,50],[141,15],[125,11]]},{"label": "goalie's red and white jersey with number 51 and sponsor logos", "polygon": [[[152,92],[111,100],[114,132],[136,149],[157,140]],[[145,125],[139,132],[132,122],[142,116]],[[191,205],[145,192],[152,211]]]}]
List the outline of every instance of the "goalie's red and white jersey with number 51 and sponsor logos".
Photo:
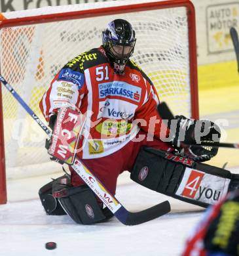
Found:
[{"label": "goalie's red and white jersey with number 51 and sponsor logos", "polygon": [[[139,129],[160,136],[162,124],[155,87],[139,66],[129,60],[125,74],[115,74],[103,47],[69,61],[54,77],[40,102],[46,121],[62,106],[86,114],[79,157],[100,158],[116,152]],[[162,127],[161,127],[162,126]]]}]

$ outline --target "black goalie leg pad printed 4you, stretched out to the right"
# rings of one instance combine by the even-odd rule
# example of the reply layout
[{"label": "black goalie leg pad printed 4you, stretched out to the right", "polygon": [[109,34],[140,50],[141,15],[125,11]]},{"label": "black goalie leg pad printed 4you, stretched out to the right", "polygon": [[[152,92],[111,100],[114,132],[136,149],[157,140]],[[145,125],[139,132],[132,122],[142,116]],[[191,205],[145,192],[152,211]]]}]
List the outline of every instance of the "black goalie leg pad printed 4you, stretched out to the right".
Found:
[{"label": "black goalie leg pad printed 4you, stretched out to the right", "polygon": [[202,207],[239,188],[239,175],[148,147],[141,148],[130,177],[151,190]]}]

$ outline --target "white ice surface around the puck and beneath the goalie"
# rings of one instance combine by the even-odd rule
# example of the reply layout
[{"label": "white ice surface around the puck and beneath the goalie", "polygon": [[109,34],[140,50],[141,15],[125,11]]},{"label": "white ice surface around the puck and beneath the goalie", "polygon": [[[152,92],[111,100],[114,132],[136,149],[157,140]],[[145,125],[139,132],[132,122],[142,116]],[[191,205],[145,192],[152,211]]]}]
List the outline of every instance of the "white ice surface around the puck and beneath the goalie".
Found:
[{"label": "white ice surface around the puck and beneath the goalie", "polygon": [[[42,179],[37,181],[41,183]],[[24,181],[12,182],[9,186],[12,188],[15,184],[18,194],[28,188]],[[29,180],[27,182],[29,184]],[[140,211],[170,200],[172,213],[138,226],[124,226],[115,217],[107,223],[84,226],[75,224],[66,215],[46,215],[34,192],[40,186],[32,185],[31,198],[35,199],[20,202],[11,199],[6,205],[0,205],[0,255],[180,255],[185,238],[202,215],[201,212],[180,213],[202,209],[200,207],[168,198],[131,181],[119,181],[117,198],[126,209]],[[30,193],[29,188],[27,192]],[[56,242],[57,248],[45,249],[46,242]]]}]

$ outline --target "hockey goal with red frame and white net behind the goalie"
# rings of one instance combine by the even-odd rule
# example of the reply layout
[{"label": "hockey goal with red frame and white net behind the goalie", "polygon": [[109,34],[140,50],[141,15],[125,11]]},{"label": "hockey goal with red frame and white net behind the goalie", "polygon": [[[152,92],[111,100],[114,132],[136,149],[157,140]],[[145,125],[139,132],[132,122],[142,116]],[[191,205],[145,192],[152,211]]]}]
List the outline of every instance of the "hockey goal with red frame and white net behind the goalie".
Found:
[{"label": "hockey goal with red frame and white net behind the goalie", "polygon": [[[41,118],[38,103],[56,72],[77,54],[98,47],[101,31],[115,18],[125,18],[136,30],[133,59],[152,79],[160,99],[166,100],[174,114],[198,118],[196,28],[191,1],[126,0],[3,15],[1,74]],[[6,203],[6,176],[39,175],[44,169],[60,166],[45,165],[49,159],[45,135],[10,93],[2,89],[0,98],[0,203]]]}]

